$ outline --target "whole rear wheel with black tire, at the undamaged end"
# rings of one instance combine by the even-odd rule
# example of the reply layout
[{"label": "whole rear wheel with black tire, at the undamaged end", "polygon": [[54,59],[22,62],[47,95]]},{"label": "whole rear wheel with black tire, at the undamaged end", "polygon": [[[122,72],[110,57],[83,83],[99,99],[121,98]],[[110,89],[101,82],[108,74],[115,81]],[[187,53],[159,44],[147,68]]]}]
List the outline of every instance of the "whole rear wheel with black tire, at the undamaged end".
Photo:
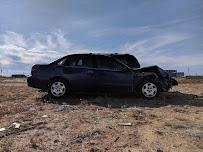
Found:
[{"label": "whole rear wheel with black tire, at the undamaged end", "polygon": [[68,84],[63,79],[55,79],[49,83],[49,94],[53,99],[64,98],[68,92]]}]

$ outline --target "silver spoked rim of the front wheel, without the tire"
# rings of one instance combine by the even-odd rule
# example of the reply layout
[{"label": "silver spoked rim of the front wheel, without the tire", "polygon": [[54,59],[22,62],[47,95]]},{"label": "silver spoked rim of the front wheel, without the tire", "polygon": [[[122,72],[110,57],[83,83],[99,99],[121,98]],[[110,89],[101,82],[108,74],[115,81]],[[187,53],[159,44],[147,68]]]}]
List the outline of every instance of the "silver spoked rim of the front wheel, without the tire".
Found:
[{"label": "silver spoked rim of the front wheel, without the tire", "polygon": [[145,83],[142,86],[142,94],[148,98],[155,97],[157,94],[157,86],[151,82]]}]

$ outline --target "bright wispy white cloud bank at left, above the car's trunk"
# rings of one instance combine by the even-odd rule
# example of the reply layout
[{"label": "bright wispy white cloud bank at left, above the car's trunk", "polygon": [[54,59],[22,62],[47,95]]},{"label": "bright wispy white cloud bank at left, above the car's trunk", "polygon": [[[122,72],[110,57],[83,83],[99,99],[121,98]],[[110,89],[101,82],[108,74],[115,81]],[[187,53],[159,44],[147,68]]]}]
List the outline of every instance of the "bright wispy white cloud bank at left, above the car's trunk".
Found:
[{"label": "bright wispy white cloud bank at left, above the car's trunk", "polygon": [[71,47],[71,42],[61,30],[44,35],[34,33],[28,38],[19,33],[6,32],[0,36],[0,64],[46,63],[67,54],[73,49]]}]

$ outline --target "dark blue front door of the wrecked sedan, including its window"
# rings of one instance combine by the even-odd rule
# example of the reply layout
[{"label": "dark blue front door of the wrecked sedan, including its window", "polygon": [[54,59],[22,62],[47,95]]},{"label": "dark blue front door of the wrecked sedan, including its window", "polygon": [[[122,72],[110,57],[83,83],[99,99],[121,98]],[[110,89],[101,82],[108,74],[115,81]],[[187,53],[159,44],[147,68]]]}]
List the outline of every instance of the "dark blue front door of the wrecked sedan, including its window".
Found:
[{"label": "dark blue front door of the wrecked sedan, including its window", "polygon": [[96,76],[101,92],[127,93],[133,91],[133,72],[109,56],[96,57]]}]

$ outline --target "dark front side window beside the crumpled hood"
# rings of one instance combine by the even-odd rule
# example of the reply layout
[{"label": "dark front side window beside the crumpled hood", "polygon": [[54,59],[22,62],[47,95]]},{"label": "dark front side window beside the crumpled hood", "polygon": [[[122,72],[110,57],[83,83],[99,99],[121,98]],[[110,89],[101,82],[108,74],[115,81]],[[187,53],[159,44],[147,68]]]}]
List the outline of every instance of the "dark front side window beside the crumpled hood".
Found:
[{"label": "dark front side window beside the crumpled hood", "polygon": [[99,56],[96,59],[96,65],[99,69],[108,69],[108,70],[121,70],[122,65],[119,64],[116,60],[108,56]]}]

